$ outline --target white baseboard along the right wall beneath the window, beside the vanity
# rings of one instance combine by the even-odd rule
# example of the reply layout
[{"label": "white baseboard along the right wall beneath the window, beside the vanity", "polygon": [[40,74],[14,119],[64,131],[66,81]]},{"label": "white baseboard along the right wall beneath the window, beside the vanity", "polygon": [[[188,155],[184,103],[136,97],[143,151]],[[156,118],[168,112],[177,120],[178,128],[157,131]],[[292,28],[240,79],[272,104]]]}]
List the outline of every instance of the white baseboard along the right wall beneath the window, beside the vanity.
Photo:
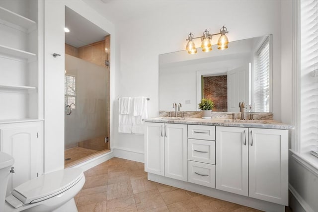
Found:
[{"label": "white baseboard along the right wall beneath the window, beside the vanity", "polygon": [[289,191],[292,194],[289,206],[293,212],[315,212],[291,184],[289,184]]}]

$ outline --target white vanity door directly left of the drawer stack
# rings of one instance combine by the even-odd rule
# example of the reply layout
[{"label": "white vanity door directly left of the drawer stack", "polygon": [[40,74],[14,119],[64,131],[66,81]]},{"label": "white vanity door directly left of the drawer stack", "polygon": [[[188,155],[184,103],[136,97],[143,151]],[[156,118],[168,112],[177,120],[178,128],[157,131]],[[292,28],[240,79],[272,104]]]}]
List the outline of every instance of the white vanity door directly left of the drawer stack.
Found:
[{"label": "white vanity door directly left of the drawer stack", "polygon": [[187,125],[164,124],[164,176],[188,181]]}]

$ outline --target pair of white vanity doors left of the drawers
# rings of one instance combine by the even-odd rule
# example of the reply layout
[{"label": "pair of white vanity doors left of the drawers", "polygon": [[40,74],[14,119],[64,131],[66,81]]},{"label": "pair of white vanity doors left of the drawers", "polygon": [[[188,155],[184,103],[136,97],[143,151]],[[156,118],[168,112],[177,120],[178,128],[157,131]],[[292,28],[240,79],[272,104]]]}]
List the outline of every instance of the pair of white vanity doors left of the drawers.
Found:
[{"label": "pair of white vanity doors left of the drawers", "polygon": [[146,123],[145,171],[188,181],[187,125]]}]

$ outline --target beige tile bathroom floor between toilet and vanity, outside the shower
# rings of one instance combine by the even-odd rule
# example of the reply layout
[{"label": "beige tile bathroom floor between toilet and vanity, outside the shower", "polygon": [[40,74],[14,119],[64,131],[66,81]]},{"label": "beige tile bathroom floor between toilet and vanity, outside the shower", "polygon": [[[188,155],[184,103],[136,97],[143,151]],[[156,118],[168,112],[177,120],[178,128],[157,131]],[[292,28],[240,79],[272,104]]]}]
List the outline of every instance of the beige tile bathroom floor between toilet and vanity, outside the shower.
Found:
[{"label": "beige tile bathroom floor between toilet and vanity, outside the shower", "polygon": [[114,157],[84,174],[75,197],[79,212],[259,212],[148,181],[144,164],[135,161]]}]

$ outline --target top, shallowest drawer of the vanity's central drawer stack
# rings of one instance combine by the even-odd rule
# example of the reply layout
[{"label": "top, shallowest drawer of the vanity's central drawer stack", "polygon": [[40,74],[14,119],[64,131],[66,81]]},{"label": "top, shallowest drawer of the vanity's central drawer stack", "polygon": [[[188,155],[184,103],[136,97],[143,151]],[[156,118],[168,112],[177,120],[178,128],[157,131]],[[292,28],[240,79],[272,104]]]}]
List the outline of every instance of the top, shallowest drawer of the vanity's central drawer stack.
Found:
[{"label": "top, shallowest drawer of the vanity's central drawer stack", "polygon": [[188,138],[215,141],[215,126],[188,125]]}]

